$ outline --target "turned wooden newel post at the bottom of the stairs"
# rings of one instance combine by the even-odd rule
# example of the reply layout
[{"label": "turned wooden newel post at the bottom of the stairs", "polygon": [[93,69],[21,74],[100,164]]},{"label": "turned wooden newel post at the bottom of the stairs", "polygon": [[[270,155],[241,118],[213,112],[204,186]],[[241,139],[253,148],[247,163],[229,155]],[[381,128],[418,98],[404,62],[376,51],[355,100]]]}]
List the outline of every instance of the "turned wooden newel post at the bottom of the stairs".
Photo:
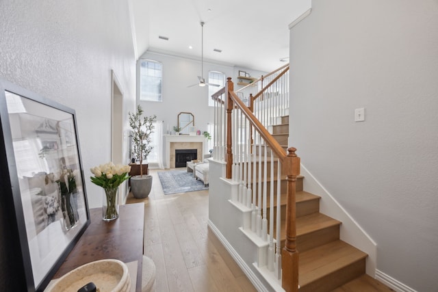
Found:
[{"label": "turned wooden newel post at the bottom of the stairs", "polygon": [[296,176],[300,174],[300,157],[296,148],[287,149],[285,170],[287,174],[286,241],[281,253],[281,286],[287,292],[298,292],[298,251],[296,250]]}]

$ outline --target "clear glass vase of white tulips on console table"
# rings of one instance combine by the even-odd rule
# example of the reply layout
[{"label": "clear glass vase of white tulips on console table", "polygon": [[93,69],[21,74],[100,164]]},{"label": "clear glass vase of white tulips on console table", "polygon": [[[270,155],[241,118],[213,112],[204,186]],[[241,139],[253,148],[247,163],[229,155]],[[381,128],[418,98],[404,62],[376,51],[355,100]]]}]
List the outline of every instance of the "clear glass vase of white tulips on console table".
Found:
[{"label": "clear glass vase of white tulips on console table", "polygon": [[110,221],[118,218],[118,186],[129,178],[128,172],[131,170],[129,165],[114,165],[106,163],[91,168],[91,181],[99,187],[103,187],[102,218]]}]

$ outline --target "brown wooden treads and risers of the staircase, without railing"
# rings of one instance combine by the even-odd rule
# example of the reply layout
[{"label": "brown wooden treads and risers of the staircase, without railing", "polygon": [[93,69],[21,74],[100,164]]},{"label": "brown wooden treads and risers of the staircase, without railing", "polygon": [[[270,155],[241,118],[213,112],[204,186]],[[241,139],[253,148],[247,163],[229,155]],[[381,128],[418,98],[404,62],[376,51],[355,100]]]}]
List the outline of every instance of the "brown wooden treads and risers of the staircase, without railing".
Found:
[{"label": "brown wooden treads and risers of the staircase, without railing", "polygon": [[[289,135],[289,116],[281,117],[281,123],[274,125],[272,132],[272,136],[283,144],[285,136]],[[331,291],[365,274],[367,254],[339,239],[339,226],[342,222],[320,213],[320,196],[304,191],[303,179],[303,176],[298,176],[296,183],[299,291]],[[282,194],[282,198],[284,197],[285,194]],[[281,209],[283,209],[281,213],[285,213],[285,200],[281,200]],[[285,224],[281,226],[281,248],[283,248]]]}]

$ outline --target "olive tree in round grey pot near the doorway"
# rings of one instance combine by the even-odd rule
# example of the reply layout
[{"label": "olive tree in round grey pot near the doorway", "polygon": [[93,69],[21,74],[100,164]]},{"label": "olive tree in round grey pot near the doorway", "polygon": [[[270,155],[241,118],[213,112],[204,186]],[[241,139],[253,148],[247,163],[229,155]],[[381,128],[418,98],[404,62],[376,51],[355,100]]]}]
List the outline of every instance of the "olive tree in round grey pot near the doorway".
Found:
[{"label": "olive tree in round grey pot near the doorway", "polygon": [[146,198],[151,192],[152,176],[143,174],[143,160],[148,157],[153,148],[151,146],[151,134],[154,129],[153,123],[157,120],[155,115],[142,117],[142,114],[143,109],[141,105],[137,106],[135,114],[129,112],[133,152],[140,162],[140,175],[131,177],[131,191],[136,198]]}]

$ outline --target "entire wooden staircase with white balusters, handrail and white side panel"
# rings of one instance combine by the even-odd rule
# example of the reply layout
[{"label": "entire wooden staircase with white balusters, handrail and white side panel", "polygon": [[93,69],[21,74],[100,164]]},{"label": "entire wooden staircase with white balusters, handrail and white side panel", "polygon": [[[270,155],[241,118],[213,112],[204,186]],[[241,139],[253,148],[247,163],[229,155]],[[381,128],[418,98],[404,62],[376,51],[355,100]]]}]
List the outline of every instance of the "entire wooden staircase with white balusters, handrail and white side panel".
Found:
[{"label": "entire wooden staircase with white balusters, handrail and white side panel", "polygon": [[289,116],[279,115],[288,85],[274,85],[286,70],[259,86],[258,101],[239,99],[231,79],[213,96],[209,227],[259,291],[391,291],[365,274],[368,254],[340,240],[342,222],[303,187],[296,149],[286,150]]}]

